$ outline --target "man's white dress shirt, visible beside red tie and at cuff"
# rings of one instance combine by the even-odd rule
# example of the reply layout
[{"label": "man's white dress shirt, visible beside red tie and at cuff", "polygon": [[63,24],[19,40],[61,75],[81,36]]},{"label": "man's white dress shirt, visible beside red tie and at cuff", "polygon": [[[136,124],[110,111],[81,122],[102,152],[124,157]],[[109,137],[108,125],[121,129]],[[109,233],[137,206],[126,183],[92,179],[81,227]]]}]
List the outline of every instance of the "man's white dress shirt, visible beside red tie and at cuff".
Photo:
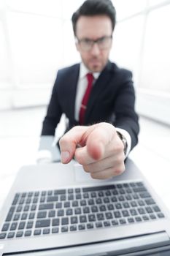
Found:
[{"label": "man's white dress shirt, visible beside red tie and at cuff", "polygon": [[[82,97],[85,94],[85,90],[87,89],[88,86],[88,80],[86,78],[86,75],[90,72],[90,70],[85,67],[85,64],[81,63],[80,64],[80,75],[77,83],[77,93],[76,93],[76,101],[75,101],[75,113],[74,117],[77,121],[79,121],[79,113],[80,113],[80,106],[82,103]],[[93,77],[94,77],[94,82],[100,75],[100,72],[94,72]],[[127,149],[126,149],[126,154],[125,157],[128,156],[129,151],[131,150],[131,136],[129,135],[128,132],[125,131],[125,129],[120,129],[115,127],[117,132],[120,132],[124,137],[127,142]]]}]

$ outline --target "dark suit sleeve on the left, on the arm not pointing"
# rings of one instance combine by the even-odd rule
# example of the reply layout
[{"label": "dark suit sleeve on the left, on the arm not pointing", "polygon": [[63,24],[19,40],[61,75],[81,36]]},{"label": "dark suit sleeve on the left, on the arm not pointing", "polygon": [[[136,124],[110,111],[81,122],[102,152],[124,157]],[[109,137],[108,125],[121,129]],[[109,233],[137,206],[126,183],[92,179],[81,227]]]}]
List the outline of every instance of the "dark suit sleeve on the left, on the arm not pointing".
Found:
[{"label": "dark suit sleeve on the left, on the arm not pointing", "polygon": [[57,127],[62,115],[61,105],[58,99],[59,99],[59,95],[58,95],[58,75],[57,75],[55,84],[53,86],[50,102],[47,107],[47,114],[42,124],[41,135],[55,135],[55,128]]}]

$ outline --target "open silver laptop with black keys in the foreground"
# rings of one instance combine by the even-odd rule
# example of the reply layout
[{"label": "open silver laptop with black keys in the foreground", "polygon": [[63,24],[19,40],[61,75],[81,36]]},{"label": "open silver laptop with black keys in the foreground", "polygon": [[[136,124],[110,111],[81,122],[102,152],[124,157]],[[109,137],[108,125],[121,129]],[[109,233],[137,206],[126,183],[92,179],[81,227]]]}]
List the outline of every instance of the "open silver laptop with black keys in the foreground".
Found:
[{"label": "open silver laptop with black keys in the foreground", "polygon": [[0,255],[170,255],[169,212],[131,159],[105,181],[81,165],[21,168],[0,216]]}]

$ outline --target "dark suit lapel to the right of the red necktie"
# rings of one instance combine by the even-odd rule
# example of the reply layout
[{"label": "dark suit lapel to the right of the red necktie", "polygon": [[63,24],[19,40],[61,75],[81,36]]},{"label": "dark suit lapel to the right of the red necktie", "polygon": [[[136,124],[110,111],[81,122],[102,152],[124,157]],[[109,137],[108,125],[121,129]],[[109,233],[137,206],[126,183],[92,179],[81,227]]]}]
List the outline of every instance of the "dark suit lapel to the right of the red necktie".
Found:
[{"label": "dark suit lapel to the right of the red necktie", "polygon": [[101,72],[98,79],[96,80],[96,83],[93,86],[93,89],[90,93],[90,97],[88,100],[88,106],[85,111],[85,123],[90,118],[90,114],[92,113],[93,106],[96,104],[96,101],[98,100],[98,96],[102,94],[105,86],[107,86],[109,83],[109,80],[111,78],[111,68],[112,64],[108,61],[107,66]]}]

